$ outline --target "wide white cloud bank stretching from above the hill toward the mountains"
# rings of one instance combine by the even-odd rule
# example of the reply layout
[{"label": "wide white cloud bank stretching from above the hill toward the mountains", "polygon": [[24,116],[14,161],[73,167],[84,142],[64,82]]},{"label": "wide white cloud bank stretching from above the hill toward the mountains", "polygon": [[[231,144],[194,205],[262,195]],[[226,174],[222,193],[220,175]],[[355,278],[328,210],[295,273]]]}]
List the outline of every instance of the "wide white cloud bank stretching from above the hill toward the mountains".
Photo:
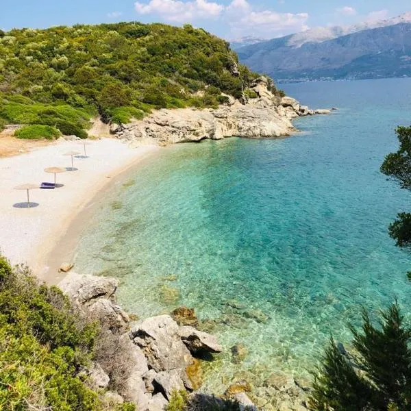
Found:
[{"label": "wide white cloud bank stretching from above the hill toward the mountains", "polygon": [[308,29],[308,13],[279,13],[258,10],[247,0],[232,0],[223,5],[208,0],[149,0],[136,1],[138,14],[158,16],[164,21],[192,23],[211,18],[221,21],[231,29],[231,36],[282,36]]}]

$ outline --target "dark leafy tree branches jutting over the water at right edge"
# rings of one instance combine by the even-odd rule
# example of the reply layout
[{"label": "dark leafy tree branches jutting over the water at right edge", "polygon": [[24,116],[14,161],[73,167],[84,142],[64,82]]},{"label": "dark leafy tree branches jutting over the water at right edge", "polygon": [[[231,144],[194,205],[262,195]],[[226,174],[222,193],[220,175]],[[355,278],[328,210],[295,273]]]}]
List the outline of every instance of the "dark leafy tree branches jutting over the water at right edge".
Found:
[{"label": "dark leafy tree branches jutting over the water at right edge", "polygon": [[[401,188],[411,189],[411,127],[398,127],[395,130],[399,140],[397,153],[386,156],[381,166],[385,175],[395,178]],[[389,233],[399,247],[411,246],[411,214],[401,212],[390,225]]]}]

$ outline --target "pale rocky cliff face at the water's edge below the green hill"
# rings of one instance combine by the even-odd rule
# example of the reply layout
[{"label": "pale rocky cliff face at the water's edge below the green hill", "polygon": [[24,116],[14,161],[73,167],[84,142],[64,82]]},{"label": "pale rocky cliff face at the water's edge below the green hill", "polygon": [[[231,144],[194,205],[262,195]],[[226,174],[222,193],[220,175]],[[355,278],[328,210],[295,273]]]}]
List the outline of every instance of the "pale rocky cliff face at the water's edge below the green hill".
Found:
[{"label": "pale rocky cliff face at the water's edge below the green hill", "polygon": [[221,140],[232,136],[278,138],[290,136],[296,131],[291,123],[295,117],[315,114],[295,99],[273,95],[269,91],[269,80],[265,77],[256,79],[251,90],[256,98],[245,98],[240,102],[229,97],[229,103],[217,109],[158,110],[142,121],[112,125],[111,130],[119,138],[135,144],[151,142],[167,145],[207,138]]}]

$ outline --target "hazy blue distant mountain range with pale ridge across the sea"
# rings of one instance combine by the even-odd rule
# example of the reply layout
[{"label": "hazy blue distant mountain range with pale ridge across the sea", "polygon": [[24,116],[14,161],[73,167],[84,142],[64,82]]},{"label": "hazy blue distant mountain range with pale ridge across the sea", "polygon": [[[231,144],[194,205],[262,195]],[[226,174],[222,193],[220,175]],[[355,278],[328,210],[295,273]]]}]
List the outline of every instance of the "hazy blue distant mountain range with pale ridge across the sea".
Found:
[{"label": "hazy blue distant mountain range with pale ridge across the sea", "polygon": [[277,82],[411,77],[411,12],[376,23],[319,27],[239,44],[232,47],[240,61]]}]

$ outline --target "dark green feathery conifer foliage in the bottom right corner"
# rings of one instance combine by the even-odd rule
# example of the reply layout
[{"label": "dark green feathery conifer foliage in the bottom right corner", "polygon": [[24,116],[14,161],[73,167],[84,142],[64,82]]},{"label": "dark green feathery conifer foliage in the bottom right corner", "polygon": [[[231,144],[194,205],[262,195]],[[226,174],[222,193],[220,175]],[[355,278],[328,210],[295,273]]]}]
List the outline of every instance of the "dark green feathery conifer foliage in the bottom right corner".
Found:
[{"label": "dark green feathery conifer foliage in the bottom right corner", "polygon": [[411,409],[411,329],[397,303],[375,327],[366,312],[362,332],[351,327],[356,356],[334,340],[314,375],[310,408],[316,411],[406,411]]}]

